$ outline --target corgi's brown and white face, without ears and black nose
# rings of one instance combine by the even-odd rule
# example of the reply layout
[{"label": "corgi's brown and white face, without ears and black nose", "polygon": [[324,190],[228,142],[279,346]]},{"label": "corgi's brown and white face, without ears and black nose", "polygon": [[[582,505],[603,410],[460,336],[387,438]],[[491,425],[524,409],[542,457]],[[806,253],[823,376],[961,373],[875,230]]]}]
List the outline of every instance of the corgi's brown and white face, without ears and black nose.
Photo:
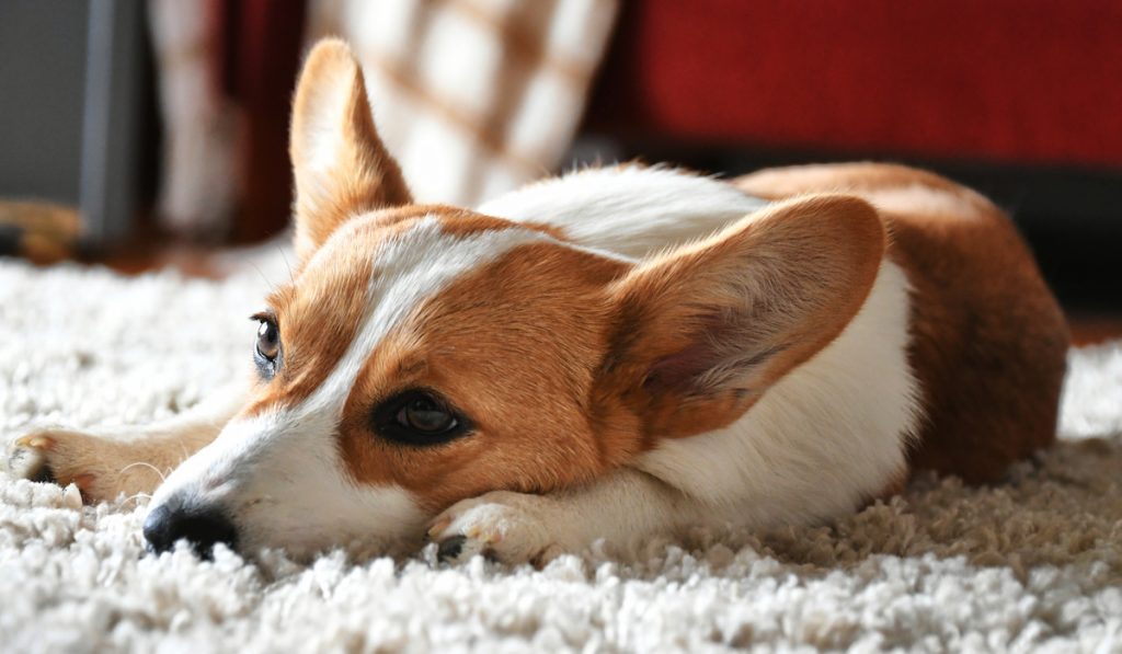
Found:
[{"label": "corgi's brown and white face, without ears and black nose", "polygon": [[295,551],[590,479],[627,454],[587,413],[625,267],[447,208],[356,217],[257,314],[252,397],[182,475],[239,543]]}]

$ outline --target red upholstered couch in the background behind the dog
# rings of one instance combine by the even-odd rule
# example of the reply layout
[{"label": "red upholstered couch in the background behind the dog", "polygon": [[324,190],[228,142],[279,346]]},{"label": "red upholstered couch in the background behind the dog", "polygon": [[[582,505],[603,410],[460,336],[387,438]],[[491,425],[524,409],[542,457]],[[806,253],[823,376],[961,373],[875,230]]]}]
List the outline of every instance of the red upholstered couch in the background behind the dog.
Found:
[{"label": "red upholstered couch in the background behind the dog", "polygon": [[1122,169],[1122,0],[633,0],[588,130]]}]

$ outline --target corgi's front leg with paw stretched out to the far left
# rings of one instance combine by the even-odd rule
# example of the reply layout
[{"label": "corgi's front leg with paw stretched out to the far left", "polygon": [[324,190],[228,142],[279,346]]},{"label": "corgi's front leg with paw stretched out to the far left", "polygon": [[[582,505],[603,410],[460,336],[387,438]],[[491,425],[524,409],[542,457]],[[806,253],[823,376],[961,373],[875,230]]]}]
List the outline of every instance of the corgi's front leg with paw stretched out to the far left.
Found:
[{"label": "corgi's front leg with paw stretched out to the far left", "polygon": [[35,481],[75,483],[86,503],[151,494],[187,457],[218,436],[245,404],[231,386],[172,420],[141,427],[80,432],[44,429],[17,439],[8,470]]}]

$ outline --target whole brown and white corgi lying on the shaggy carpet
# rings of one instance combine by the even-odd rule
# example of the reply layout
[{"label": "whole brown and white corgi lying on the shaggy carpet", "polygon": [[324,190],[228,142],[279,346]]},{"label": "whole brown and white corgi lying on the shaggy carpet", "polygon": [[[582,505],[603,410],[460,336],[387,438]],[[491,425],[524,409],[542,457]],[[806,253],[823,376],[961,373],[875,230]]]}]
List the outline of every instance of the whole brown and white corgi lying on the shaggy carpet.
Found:
[{"label": "whole brown and white corgi lying on the shaggy carpet", "polygon": [[88,501],[154,494],[154,551],[542,562],[830,521],[917,470],[992,482],[1054,440],[1063,314],[1010,220],[947,179],[622,165],[468,210],[413,201],[343,43],[293,111],[298,267],[254,316],[252,380],[15,444]]}]

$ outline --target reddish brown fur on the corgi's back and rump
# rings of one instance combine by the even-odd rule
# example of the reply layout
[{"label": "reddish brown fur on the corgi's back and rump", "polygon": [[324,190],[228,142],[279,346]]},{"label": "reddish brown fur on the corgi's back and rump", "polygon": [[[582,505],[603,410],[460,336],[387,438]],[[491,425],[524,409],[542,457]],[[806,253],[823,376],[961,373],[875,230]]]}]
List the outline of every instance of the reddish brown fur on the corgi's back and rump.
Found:
[{"label": "reddish brown fur on the corgi's back and rump", "polygon": [[[736,185],[770,199],[833,190],[875,203],[877,193],[916,185],[951,196],[908,212],[882,210],[893,236],[890,256],[913,287],[909,358],[927,421],[911,463],[993,481],[1054,441],[1067,325],[995,206],[936,175],[879,164],[764,171]],[[955,202],[972,215],[948,213]]]}]

